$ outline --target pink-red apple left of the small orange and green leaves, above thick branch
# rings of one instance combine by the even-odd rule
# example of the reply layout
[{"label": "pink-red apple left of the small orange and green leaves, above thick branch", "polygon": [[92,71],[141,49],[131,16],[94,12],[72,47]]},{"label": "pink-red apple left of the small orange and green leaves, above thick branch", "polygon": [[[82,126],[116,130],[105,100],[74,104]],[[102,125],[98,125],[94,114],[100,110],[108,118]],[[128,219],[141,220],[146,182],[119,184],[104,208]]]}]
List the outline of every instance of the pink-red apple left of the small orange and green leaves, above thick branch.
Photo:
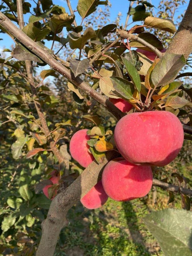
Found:
[{"label": "pink-red apple left of the small orange and green leaves, above thick branch", "polygon": [[94,160],[93,155],[88,151],[89,145],[87,141],[90,140],[90,136],[87,135],[87,131],[88,129],[77,131],[73,134],[69,144],[72,158],[84,168]]}]

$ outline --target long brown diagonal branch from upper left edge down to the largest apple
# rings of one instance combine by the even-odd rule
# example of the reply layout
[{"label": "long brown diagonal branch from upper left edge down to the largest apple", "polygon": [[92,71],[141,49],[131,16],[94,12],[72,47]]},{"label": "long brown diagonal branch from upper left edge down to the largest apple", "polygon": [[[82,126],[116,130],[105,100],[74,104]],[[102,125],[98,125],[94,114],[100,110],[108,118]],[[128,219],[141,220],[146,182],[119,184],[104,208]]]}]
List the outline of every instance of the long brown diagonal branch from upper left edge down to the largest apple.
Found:
[{"label": "long brown diagonal branch from upper left edge down to the largest apple", "polygon": [[108,111],[110,111],[117,119],[120,119],[125,114],[115,107],[108,99],[99,94],[86,84],[79,76],[74,77],[69,69],[64,67],[61,63],[57,62],[44,48],[40,47],[36,42],[29,38],[25,33],[18,29],[2,12],[0,12],[0,24],[6,28],[10,34],[12,34],[20,43],[22,43],[27,49],[36,54],[39,58],[44,60],[50,67],[56,70],[58,73],[70,80],[74,85],[78,86],[87,95],[97,100]]}]

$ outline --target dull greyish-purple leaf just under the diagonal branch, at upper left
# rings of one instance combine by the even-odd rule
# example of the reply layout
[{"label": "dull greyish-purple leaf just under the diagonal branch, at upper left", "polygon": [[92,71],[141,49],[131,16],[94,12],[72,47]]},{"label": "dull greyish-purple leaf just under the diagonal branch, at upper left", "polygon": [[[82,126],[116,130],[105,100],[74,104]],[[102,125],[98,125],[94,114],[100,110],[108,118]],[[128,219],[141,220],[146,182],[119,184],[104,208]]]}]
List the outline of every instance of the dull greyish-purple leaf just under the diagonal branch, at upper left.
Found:
[{"label": "dull greyish-purple leaf just under the diagonal branch, at upper left", "polygon": [[39,59],[36,55],[33,53],[29,52],[28,49],[26,49],[23,45],[17,44],[15,48],[13,49],[11,55],[22,61],[22,60],[30,60],[30,61],[36,61],[39,63],[43,63],[41,59]]}]

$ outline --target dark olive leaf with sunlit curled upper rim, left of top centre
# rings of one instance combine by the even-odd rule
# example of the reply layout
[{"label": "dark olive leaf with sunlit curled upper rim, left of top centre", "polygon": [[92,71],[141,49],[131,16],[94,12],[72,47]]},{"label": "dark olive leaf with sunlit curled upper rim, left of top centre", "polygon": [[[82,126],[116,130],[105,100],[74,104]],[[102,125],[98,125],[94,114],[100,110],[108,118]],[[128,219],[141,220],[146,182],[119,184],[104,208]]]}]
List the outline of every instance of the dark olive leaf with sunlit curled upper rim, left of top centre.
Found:
[{"label": "dark olive leaf with sunlit curled upper rim, left of top centre", "polygon": [[61,33],[63,27],[69,27],[75,19],[74,14],[68,15],[68,13],[62,13],[60,15],[54,15],[49,20],[49,26],[51,31],[55,34]]}]

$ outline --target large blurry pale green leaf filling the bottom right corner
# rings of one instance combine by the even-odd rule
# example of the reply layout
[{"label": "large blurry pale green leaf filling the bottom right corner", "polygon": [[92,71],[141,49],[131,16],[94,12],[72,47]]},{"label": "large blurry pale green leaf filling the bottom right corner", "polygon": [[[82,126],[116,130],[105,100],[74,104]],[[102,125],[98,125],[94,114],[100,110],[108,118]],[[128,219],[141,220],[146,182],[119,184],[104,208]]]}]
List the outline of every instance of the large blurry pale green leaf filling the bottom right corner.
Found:
[{"label": "large blurry pale green leaf filling the bottom right corner", "polygon": [[192,212],[165,209],[143,218],[147,228],[157,239],[164,255],[191,255]]}]

